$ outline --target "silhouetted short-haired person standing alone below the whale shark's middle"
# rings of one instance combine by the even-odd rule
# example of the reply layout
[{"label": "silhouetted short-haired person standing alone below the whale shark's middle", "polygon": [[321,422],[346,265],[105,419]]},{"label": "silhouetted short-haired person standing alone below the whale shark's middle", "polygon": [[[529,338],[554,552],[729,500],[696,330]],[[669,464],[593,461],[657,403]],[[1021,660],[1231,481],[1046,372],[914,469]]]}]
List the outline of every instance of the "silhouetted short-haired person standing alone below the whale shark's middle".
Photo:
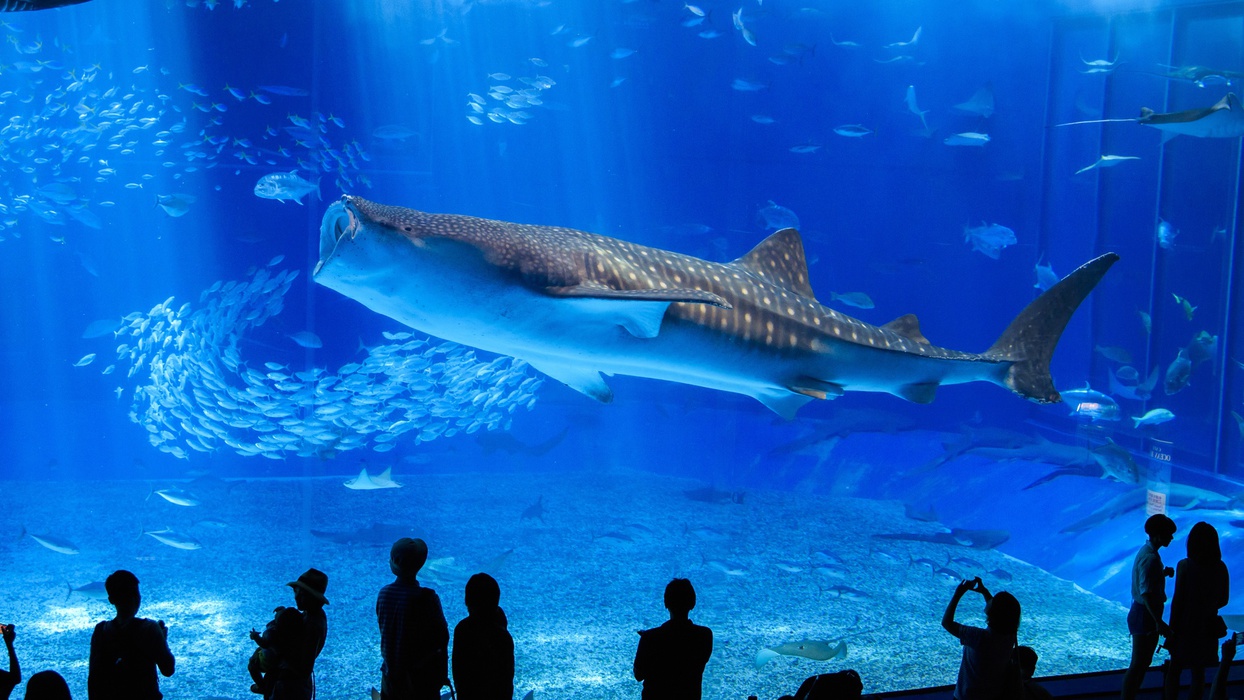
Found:
[{"label": "silhouetted short-haired person standing alone below the whale shark's middle", "polygon": [[639,630],[634,652],[634,679],[643,681],[643,700],[699,700],[704,666],[713,655],[713,630],[688,614],[695,607],[695,588],[685,578],[666,586],[669,622]]}]

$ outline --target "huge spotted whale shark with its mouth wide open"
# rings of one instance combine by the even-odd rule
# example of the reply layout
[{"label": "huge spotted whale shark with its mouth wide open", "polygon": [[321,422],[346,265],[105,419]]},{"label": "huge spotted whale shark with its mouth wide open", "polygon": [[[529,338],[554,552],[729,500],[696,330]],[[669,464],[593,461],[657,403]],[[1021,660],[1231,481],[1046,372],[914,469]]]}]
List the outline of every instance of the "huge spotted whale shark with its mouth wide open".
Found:
[{"label": "huge spotted whale shark with its mouth wide open", "polygon": [[728,264],[618,239],[343,196],[323,215],[316,282],[424,333],[521,358],[597,400],[601,373],[754,397],[784,418],[847,390],[928,403],[991,382],[1059,402],[1062,329],[1118,260],[1102,255],[1033,301],[983,353],[937,347],[907,315],[872,326],[822,306],[782,229]]}]

